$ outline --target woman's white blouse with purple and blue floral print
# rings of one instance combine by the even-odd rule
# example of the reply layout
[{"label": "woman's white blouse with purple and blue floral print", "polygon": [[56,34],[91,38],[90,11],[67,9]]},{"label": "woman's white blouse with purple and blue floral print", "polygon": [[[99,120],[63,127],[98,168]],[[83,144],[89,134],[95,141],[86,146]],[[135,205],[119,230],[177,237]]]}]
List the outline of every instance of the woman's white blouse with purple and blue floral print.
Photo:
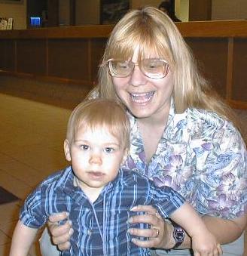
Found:
[{"label": "woman's white blouse with purple and blue floral print", "polygon": [[204,109],[175,113],[147,164],[136,119],[130,115],[130,156],[125,168],[178,191],[200,213],[234,218],[247,211],[247,153],[233,124]]}]

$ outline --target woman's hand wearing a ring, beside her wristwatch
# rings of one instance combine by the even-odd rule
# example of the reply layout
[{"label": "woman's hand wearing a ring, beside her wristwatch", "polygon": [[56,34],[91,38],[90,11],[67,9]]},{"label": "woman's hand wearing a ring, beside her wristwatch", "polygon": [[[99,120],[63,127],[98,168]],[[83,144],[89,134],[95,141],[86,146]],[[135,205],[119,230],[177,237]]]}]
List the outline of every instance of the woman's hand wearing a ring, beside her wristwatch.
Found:
[{"label": "woman's hand wearing a ring, beside her wristwatch", "polygon": [[146,214],[130,217],[128,220],[130,224],[145,223],[151,225],[151,229],[147,230],[135,228],[128,230],[131,235],[149,238],[146,241],[132,239],[134,244],[145,248],[163,249],[169,249],[175,245],[175,241],[172,238],[172,225],[163,221],[163,218],[160,217],[160,214],[157,213],[155,208],[151,205],[138,205],[133,207],[131,211],[145,211]]}]

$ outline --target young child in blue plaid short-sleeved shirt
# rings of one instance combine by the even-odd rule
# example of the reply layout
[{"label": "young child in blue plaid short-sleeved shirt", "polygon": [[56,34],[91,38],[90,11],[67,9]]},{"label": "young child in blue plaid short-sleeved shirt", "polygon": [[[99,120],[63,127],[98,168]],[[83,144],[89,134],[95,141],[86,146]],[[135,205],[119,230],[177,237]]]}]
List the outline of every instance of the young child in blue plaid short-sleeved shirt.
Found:
[{"label": "young child in blue plaid short-sleeved shirt", "polygon": [[[135,205],[154,205],[188,232],[194,255],[221,254],[221,246],[196,211],[169,187],[135,171],[122,170],[129,148],[130,124],[112,100],[88,100],[69,118],[64,151],[72,165],[47,177],[28,196],[14,230],[11,256],[27,255],[38,228],[50,214],[68,211],[74,233],[62,255],[148,255],[127,233]],[[136,213],[133,213],[136,214]],[[151,227],[154,238],[159,227]]]}]

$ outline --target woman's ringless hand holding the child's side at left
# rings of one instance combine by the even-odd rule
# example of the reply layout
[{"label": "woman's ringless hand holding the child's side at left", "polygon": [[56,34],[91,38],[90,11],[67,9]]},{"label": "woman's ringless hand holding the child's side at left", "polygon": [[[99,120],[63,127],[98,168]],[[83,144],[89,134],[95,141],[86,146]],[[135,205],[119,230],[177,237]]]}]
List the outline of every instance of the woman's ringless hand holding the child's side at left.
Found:
[{"label": "woman's ringless hand holding the child's side at left", "polygon": [[[68,218],[69,213],[64,211],[59,214],[50,215],[48,221],[51,239],[60,251],[65,251],[70,248],[69,239],[74,232],[72,229],[72,221],[69,221]],[[64,224],[59,224],[63,222]]]}]

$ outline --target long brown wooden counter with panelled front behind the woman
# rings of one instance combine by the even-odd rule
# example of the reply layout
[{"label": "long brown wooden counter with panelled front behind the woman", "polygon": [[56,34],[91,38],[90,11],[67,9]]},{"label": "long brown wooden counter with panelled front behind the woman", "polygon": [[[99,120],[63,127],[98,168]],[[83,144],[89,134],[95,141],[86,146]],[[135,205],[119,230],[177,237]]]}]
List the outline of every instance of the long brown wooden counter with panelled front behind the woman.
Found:
[{"label": "long brown wooden counter with panelled front behind the woman", "polygon": [[[247,20],[176,23],[212,86],[247,109]],[[90,89],[113,26],[0,31],[0,74]]]}]

